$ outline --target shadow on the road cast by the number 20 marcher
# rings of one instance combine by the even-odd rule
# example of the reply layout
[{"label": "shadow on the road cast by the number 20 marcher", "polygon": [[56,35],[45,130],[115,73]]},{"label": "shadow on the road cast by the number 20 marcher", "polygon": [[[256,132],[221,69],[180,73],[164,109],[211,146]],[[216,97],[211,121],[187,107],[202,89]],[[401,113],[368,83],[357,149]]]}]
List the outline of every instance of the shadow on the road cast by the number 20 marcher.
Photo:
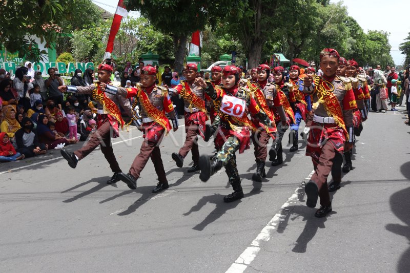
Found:
[{"label": "shadow on the road cast by the number 20 marcher", "polygon": [[[260,190],[262,186],[261,183],[253,182],[253,186],[254,186],[253,189],[249,193],[245,193],[243,198],[247,198],[252,195],[256,195],[256,194],[263,192]],[[225,203],[223,202],[223,197],[224,195],[221,195],[221,194],[203,196],[201,199],[198,200],[198,203],[189,210],[189,212],[183,214],[184,216],[188,216],[193,212],[198,212],[207,203],[216,205],[214,210],[205,219],[203,219],[202,222],[194,226],[192,229],[195,229],[198,231],[203,230],[209,224],[219,219],[222,215],[226,214],[230,209],[235,208],[241,202],[241,200],[236,200],[231,203]]]}]

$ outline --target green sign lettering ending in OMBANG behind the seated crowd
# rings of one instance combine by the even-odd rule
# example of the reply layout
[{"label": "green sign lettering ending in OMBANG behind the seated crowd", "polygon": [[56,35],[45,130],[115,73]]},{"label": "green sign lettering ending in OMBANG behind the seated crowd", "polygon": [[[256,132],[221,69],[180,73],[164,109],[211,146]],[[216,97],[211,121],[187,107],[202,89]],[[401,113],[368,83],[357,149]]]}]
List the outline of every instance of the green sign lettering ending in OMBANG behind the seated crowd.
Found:
[{"label": "green sign lettering ending in OMBANG behind the seated crowd", "polygon": [[[9,59],[9,53],[7,53],[7,59]],[[0,62],[0,68],[10,72],[10,74],[14,75],[17,68],[21,66],[21,62],[13,62],[13,61],[6,61]],[[64,62],[34,62],[33,69],[39,70],[42,72],[43,75],[47,74],[47,70],[51,67],[56,67],[59,74],[64,73],[74,73],[76,69],[81,70],[81,72],[85,72],[86,69],[91,68],[94,70],[94,64],[92,62],[69,62],[68,65]]]}]

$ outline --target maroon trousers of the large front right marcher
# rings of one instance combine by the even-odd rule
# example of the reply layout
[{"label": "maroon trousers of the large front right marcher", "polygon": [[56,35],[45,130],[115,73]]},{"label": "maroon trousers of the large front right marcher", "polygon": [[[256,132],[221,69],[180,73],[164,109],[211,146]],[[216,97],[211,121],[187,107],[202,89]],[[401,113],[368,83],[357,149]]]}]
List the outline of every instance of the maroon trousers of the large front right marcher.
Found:
[{"label": "maroon trousers of the large front right marcher", "polygon": [[341,164],[343,157],[341,152],[335,150],[333,144],[327,141],[322,148],[318,162],[312,158],[315,173],[312,181],[319,188],[320,205],[326,206],[330,203],[329,188],[327,188],[327,176],[332,172],[334,182],[341,182]]}]

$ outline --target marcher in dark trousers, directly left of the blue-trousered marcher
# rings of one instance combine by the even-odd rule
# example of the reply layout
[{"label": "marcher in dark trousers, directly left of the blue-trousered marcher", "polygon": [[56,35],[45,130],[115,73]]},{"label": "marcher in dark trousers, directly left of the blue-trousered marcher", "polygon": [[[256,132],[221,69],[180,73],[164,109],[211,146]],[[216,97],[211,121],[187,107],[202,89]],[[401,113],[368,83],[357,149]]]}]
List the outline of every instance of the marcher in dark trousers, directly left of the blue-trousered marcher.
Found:
[{"label": "marcher in dark trousers, directly left of the blue-trousered marcher", "polygon": [[[284,69],[283,67],[275,67],[272,69],[272,74],[275,79],[276,90],[280,93],[280,100],[283,109],[286,113],[286,120],[289,124],[295,123],[295,114],[291,103],[289,103],[289,87],[293,87],[289,82],[284,83]],[[279,113],[275,110],[275,122],[279,120]],[[279,126],[278,132],[276,133],[276,140],[272,144],[271,150],[269,151],[269,160],[272,161],[272,166],[277,166],[283,163],[283,151],[282,151],[282,138],[286,130],[288,130],[289,125]]]}]

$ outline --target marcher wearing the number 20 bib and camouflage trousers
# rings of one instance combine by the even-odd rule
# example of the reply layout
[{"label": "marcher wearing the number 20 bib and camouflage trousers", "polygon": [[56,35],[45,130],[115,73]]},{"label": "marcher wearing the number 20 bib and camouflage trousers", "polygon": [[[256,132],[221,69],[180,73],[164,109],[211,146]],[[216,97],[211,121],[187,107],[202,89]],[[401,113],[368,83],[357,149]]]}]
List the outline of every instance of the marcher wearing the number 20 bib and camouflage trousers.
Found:
[{"label": "marcher wearing the number 20 bib and camouflage trousers", "polygon": [[226,66],[222,71],[223,87],[215,90],[212,85],[206,84],[203,79],[197,78],[196,83],[215,100],[218,116],[221,118],[215,143],[218,145],[217,154],[212,159],[202,155],[199,159],[201,173],[199,178],[207,181],[213,174],[225,167],[234,192],[223,198],[225,202],[232,202],[243,197],[241,181],[236,168],[235,153],[243,153],[250,148],[250,128],[254,129],[248,118],[248,111],[257,115],[265,125],[265,130],[271,126],[269,117],[258,107],[256,101],[250,96],[249,91],[238,87],[239,70],[234,66]]}]

